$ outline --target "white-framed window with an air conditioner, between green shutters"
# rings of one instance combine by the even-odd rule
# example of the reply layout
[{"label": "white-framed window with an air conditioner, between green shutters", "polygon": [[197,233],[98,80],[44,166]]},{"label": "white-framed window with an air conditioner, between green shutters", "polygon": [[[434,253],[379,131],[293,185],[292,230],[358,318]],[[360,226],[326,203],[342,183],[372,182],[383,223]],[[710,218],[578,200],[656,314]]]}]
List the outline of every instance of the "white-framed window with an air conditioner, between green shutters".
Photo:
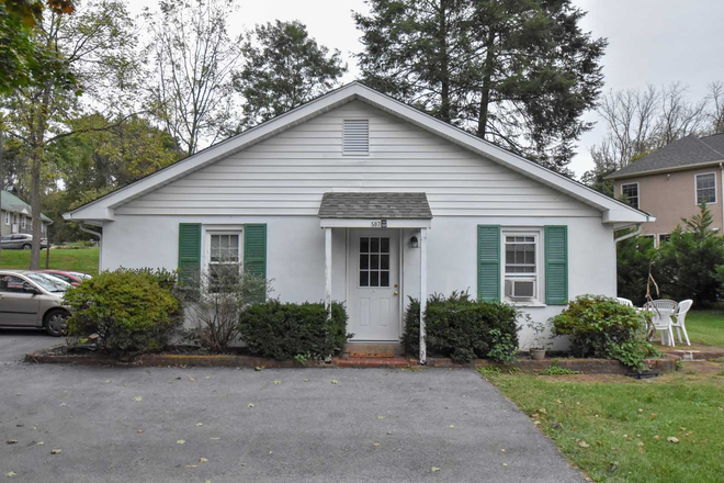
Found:
[{"label": "white-framed window with an air conditioner, between green shutters", "polygon": [[512,302],[540,300],[539,233],[504,232],[505,295]]}]

